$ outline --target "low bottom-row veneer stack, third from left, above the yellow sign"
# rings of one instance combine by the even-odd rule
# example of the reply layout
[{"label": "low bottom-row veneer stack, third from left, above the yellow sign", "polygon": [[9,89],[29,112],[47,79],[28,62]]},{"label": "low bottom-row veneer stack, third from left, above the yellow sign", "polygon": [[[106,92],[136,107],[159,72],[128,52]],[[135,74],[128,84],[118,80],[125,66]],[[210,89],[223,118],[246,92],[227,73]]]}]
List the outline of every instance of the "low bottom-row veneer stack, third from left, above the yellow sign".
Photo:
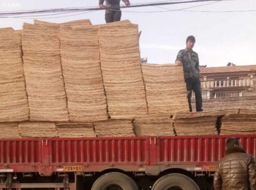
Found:
[{"label": "low bottom-row veneer stack, third from left, above the yellow sign", "polygon": [[92,123],[56,123],[59,137],[96,137]]}]

